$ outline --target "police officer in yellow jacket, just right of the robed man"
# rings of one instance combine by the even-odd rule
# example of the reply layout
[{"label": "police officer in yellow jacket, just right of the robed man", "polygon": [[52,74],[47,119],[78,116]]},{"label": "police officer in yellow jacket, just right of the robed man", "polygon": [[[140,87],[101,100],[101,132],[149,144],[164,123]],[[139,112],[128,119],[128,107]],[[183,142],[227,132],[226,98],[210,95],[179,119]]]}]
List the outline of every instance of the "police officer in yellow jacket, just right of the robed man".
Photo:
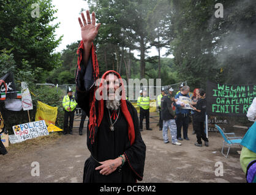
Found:
[{"label": "police officer in yellow jacket, just right of the robed man", "polygon": [[147,91],[142,91],[142,97],[138,98],[137,105],[140,107],[140,131],[143,130],[143,118],[146,118],[146,130],[152,130],[149,128],[149,96]]}]

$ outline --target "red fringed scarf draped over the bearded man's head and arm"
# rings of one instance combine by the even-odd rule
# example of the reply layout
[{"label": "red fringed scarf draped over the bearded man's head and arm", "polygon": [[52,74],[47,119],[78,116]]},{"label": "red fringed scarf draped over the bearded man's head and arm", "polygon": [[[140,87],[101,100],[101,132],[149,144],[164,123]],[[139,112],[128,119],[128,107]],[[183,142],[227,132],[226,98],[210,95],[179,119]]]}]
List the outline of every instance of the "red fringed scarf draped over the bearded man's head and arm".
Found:
[{"label": "red fringed scarf draped over the bearded man's head and arm", "polygon": [[[78,54],[78,62],[77,63],[78,63],[79,70],[80,70],[80,63],[82,60],[83,49],[84,49],[83,41],[81,41],[79,48],[77,50],[77,54]],[[92,44],[91,54],[92,54],[92,66],[93,66],[92,69],[93,69],[94,81],[96,82],[96,80],[99,79],[99,65],[98,65],[97,55],[96,55],[93,44]],[[99,87],[102,87],[102,85],[104,83],[104,79],[106,78],[107,74],[109,74],[109,73],[115,73],[116,76],[118,76],[118,79],[121,83],[120,84],[122,87],[121,112],[124,114],[124,117],[126,118],[126,121],[128,122],[128,136],[129,136],[130,144],[132,145],[135,140],[134,121],[132,120],[132,116],[130,115],[130,112],[127,108],[126,93],[124,90],[124,83],[122,82],[121,76],[116,71],[113,71],[113,70],[107,71],[103,74]],[[91,144],[93,144],[95,141],[97,128],[100,126],[100,123],[102,122],[102,118],[104,116],[104,100],[103,99],[101,99],[99,101],[99,109],[98,109],[98,113],[96,113],[96,107],[95,107],[96,90],[97,90],[97,87],[94,86],[93,96],[90,97],[90,116],[89,116],[90,135],[89,135],[89,138],[91,140]]]}]

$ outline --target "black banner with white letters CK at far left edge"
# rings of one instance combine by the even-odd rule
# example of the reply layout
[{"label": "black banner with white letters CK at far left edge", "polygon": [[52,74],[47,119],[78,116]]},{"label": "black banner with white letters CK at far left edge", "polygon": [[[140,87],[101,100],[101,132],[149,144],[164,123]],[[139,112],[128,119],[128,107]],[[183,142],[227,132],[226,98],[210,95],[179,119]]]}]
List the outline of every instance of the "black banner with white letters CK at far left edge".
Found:
[{"label": "black banner with white letters CK at far left edge", "polygon": [[6,98],[17,98],[13,74],[7,73],[0,78],[0,101],[5,101]]}]

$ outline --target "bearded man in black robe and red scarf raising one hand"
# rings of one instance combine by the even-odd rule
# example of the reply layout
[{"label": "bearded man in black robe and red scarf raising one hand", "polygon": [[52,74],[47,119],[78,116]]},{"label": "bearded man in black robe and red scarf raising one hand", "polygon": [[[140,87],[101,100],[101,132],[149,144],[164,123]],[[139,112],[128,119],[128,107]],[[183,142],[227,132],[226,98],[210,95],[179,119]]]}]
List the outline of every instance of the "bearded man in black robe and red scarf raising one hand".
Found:
[{"label": "bearded man in black robe and red scarf raising one hand", "polygon": [[[99,65],[92,41],[96,26],[86,11],[78,18],[81,42],[77,51],[78,68],[75,94],[80,108],[89,117],[87,146],[91,156],[85,161],[83,182],[137,182],[143,179],[146,146],[134,106],[126,101],[124,84],[115,71],[107,71],[99,80]],[[100,82],[99,82],[100,81]]]}]

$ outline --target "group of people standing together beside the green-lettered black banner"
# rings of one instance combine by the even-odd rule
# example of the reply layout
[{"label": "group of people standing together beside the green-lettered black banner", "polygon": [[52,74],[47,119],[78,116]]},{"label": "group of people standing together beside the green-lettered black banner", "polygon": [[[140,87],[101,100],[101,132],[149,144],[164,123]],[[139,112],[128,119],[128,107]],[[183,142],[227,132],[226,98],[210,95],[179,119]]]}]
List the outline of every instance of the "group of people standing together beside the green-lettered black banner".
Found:
[{"label": "group of people standing together beside the green-lettered black banner", "polygon": [[[205,112],[206,99],[205,90],[196,88],[193,96],[190,95],[189,86],[181,85],[180,91],[175,96],[172,95],[173,88],[162,88],[161,94],[157,97],[157,107],[159,108],[159,130],[163,132],[164,143],[168,141],[168,127],[171,133],[171,143],[181,145],[178,140],[189,140],[187,129],[189,127],[190,115],[193,122],[193,134],[197,135],[195,146],[209,146],[209,140],[205,134]],[[179,101],[179,97],[184,96],[192,100],[190,108],[185,107],[183,102]],[[181,137],[181,129],[183,127],[183,138]]]}]

